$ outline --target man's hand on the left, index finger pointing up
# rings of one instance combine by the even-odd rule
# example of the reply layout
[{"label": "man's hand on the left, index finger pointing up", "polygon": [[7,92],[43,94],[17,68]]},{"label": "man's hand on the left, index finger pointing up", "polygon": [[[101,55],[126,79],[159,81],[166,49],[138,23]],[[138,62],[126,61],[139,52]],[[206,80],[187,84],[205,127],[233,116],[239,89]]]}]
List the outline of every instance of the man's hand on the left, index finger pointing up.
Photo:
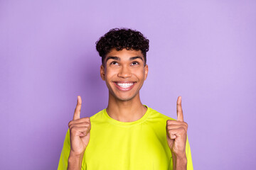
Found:
[{"label": "man's hand on the left, index finger pointing up", "polygon": [[78,96],[73,120],[68,123],[70,130],[70,155],[81,156],[90,140],[90,118],[80,118],[82,99]]}]

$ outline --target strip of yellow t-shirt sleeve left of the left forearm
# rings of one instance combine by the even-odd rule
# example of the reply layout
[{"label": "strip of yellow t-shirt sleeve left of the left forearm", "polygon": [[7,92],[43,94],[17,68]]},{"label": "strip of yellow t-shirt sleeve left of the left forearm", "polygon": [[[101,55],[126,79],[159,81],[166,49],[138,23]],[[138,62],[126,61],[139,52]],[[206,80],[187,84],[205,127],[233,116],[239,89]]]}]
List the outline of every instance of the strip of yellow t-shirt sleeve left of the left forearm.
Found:
[{"label": "strip of yellow t-shirt sleeve left of the left forearm", "polygon": [[63,149],[60,154],[60,161],[58,164],[58,170],[68,169],[68,157],[70,154],[70,132],[65,135],[65,140],[63,143]]}]

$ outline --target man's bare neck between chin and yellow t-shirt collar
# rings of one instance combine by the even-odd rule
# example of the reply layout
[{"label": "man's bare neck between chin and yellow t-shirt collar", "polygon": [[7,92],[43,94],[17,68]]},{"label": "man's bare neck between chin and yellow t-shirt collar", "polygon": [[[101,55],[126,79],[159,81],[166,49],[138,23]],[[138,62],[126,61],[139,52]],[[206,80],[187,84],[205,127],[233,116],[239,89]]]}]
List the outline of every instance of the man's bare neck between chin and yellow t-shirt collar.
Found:
[{"label": "man's bare neck between chin and yellow t-shirt collar", "polygon": [[139,94],[129,101],[120,101],[110,94],[106,111],[114,120],[134,122],[142,118],[146,113],[146,107],[142,105]]}]

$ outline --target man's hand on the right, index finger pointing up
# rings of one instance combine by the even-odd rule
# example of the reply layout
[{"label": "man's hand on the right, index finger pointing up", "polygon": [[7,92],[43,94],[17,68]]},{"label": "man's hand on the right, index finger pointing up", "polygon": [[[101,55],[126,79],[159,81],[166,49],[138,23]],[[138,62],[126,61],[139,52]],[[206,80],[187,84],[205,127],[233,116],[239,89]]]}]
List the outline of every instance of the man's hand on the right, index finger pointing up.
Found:
[{"label": "man's hand on the right, index finger pointing up", "polygon": [[171,154],[176,158],[186,158],[186,136],[188,124],[183,120],[181,96],[177,100],[177,120],[167,120],[166,135]]}]

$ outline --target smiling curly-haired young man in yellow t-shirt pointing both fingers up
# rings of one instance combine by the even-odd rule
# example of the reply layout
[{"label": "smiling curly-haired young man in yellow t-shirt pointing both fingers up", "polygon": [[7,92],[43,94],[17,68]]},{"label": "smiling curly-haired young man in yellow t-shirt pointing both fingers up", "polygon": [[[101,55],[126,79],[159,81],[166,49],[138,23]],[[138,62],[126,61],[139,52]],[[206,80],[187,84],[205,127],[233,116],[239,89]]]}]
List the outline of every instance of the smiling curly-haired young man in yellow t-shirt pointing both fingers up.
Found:
[{"label": "smiling curly-haired young man in yellow t-shirt pointing both fingers up", "polygon": [[80,118],[78,96],[58,169],[193,169],[181,97],[177,120],[140,101],[148,50],[149,40],[136,30],[112,29],[97,41],[108,106],[90,118]]}]

